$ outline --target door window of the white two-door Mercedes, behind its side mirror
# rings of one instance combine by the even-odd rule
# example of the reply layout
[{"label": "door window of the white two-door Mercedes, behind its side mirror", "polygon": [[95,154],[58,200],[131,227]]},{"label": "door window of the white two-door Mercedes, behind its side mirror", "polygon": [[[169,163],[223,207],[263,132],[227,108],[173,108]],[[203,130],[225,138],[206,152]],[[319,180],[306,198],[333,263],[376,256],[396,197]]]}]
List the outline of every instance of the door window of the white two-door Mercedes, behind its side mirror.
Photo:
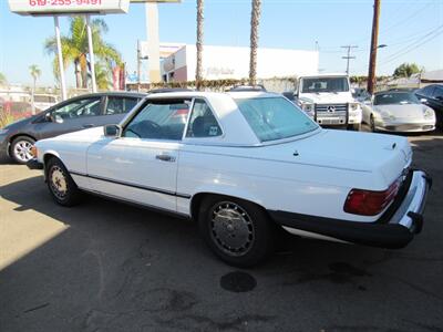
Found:
[{"label": "door window of the white two-door Mercedes, behind its side mirror", "polygon": [[190,101],[150,101],[123,131],[124,137],[181,141]]}]

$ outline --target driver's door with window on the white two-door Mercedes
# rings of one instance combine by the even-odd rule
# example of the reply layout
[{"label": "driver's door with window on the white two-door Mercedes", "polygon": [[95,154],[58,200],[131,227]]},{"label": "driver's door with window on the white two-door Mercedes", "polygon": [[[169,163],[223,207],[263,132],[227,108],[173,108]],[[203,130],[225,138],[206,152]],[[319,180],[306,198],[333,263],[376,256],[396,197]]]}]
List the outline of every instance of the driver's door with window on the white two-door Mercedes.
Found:
[{"label": "driver's door with window on the white two-door Mercedes", "polygon": [[93,190],[123,200],[176,210],[178,149],[190,101],[151,100],[123,126],[87,151]]}]

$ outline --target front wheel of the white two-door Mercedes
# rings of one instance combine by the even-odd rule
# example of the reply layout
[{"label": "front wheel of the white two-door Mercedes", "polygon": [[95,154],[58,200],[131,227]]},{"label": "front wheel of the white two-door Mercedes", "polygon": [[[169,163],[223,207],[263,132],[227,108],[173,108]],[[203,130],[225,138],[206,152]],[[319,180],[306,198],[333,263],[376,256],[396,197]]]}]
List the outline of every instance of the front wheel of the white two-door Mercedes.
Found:
[{"label": "front wheel of the white two-door Mercedes", "polygon": [[45,165],[47,183],[54,201],[61,206],[74,206],[80,201],[80,189],[63,163],[53,157]]}]

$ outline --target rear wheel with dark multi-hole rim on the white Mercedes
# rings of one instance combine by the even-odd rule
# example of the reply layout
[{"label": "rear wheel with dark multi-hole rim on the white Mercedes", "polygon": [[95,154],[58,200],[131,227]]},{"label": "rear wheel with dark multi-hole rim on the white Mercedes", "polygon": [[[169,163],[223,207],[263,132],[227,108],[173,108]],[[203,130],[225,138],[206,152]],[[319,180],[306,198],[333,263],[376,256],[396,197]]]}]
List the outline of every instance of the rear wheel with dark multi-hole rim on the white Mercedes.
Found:
[{"label": "rear wheel with dark multi-hole rim on the white Mercedes", "polygon": [[[224,222],[215,220],[216,215]],[[251,267],[274,251],[276,225],[254,203],[227,196],[207,196],[199,208],[198,226],[209,248],[228,264]]]}]

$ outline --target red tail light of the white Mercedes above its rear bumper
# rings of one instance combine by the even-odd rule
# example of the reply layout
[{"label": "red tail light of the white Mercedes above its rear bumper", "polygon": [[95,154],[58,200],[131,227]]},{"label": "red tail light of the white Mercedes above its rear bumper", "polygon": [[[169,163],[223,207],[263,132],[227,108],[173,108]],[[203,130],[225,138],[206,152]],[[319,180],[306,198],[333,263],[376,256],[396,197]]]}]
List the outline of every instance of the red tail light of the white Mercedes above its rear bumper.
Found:
[{"label": "red tail light of the white Mercedes above its rear bumper", "polygon": [[395,198],[400,180],[384,191],[351,189],[344,203],[344,211],[353,215],[377,216]]}]

